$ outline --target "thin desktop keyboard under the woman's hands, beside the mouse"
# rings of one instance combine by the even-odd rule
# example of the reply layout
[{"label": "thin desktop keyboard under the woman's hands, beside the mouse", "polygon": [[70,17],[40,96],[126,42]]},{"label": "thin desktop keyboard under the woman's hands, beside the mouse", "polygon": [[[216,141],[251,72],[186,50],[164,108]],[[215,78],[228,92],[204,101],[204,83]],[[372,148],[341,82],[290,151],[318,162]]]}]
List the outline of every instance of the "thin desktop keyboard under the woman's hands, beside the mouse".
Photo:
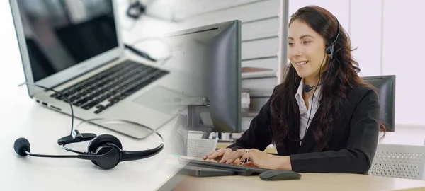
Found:
[{"label": "thin desktop keyboard under the woman's hands, beside the mouse", "polygon": [[257,168],[252,166],[242,166],[236,164],[217,163],[213,161],[204,161],[200,159],[179,158],[179,162],[186,166],[198,166],[206,168],[215,168],[219,170],[229,170],[236,175],[259,175],[260,173],[269,171],[266,168]]}]

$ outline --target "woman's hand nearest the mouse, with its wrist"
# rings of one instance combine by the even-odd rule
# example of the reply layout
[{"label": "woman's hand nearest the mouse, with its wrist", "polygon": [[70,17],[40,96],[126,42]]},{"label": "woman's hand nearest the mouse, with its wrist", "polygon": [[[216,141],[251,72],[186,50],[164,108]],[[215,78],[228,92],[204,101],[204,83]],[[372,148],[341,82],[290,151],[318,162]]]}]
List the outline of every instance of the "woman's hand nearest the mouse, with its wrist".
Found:
[{"label": "woman's hand nearest the mouse, with its wrist", "polygon": [[268,154],[258,149],[238,149],[234,151],[225,162],[228,164],[234,163],[238,158],[240,158],[240,162],[249,159],[251,165],[259,168],[291,170],[289,156]]}]

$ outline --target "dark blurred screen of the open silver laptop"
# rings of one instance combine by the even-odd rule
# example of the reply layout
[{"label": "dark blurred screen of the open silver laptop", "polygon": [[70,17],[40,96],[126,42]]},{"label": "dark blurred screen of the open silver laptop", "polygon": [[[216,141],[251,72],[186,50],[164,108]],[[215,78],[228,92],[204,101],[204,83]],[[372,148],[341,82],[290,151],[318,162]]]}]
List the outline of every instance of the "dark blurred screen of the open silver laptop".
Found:
[{"label": "dark blurred screen of the open silver laptop", "polygon": [[34,81],[118,47],[112,0],[18,0]]}]

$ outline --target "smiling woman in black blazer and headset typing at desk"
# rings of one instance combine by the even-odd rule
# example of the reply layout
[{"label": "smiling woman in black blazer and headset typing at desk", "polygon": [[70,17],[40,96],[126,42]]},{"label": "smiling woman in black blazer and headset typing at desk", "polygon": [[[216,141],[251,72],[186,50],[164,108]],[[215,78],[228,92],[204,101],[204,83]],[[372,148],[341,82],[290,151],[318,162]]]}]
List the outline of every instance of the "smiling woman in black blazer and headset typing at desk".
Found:
[{"label": "smiling woman in black blazer and headset typing at desk", "polygon": [[[385,127],[377,93],[358,76],[344,28],[324,8],[300,8],[289,22],[288,58],[285,81],[249,129],[204,159],[249,159],[259,168],[295,172],[367,173]],[[263,152],[271,143],[278,155]]]}]

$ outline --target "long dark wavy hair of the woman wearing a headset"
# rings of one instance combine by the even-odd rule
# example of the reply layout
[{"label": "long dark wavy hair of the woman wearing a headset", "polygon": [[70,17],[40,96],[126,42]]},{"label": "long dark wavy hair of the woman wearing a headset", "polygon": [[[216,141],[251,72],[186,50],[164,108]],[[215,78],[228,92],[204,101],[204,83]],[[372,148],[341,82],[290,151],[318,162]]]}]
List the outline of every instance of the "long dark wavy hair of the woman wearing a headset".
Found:
[{"label": "long dark wavy hair of the woman wearing a headset", "polygon": [[[305,6],[291,16],[289,25],[295,20],[309,25],[324,38],[325,42],[331,43],[335,40],[339,22],[326,9],[319,6]],[[327,147],[327,141],[334,128],[332,122],[338,119],[339,114],[341,114],[341,105],[346,101],[346,93],[356,86],[373,88],[358,76],[360,68],[358,62],[351,56],[351,51],[353,51],[351,50],[351,41],[341,25],[339,25],[339,30],[332,63],[330,66],[325,65],[325,70],[322,69],[321,74],[319,74],[321,75],[319,79],[322,79],[323,83],[321,107],[319,107],[321,115],[318,118],[319,125],[314,129],[317,151]],[[327,77],[326,69],[329,70]],[[297,75],[294,67],[288,66],[284,81],[278,86],[275,95],[271,98],[272,140],[277,145],[282,145],[285,139],[290,139],[290,127],[294,124],[294,120],[300,120],[300,111],[295,100],[295,93],[300,81],[301,78]],[[373,89],[375,90],[375,88]],[[385,126],[382,122],[380,123],[380,131],[385,132]]]}]

